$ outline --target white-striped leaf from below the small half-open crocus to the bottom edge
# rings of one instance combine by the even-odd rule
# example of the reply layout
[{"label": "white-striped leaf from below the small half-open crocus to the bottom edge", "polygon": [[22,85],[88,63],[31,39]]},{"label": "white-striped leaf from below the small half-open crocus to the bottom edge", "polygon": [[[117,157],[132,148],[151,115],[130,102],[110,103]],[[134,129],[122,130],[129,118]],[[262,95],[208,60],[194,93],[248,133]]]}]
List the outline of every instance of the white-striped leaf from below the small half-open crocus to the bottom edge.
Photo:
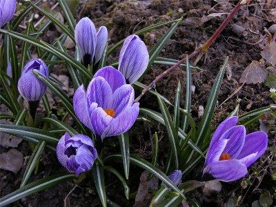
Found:
[{"label": "white-striped leaf from below the small half-open crocus to the bottom edge", "polygon": [[103,207],[106,207],[106,186],[104,184],[103,166],[95,162],[92,168],[92,176],[95,182],[96,190]]}]

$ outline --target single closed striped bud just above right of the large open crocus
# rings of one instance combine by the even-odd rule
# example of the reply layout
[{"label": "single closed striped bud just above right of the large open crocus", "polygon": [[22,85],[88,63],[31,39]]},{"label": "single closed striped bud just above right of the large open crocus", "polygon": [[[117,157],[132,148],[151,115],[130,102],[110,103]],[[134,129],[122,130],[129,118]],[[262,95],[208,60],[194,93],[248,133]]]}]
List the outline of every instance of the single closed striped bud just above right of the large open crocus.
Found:
[{"label": "single closed striped bud just above right of the large open crocus", "polygon": [[118,70],[124,75],[127,83],[134,83],[148,67],[149,55],[144,41],[132,34],[126,38],[119,55]]}]

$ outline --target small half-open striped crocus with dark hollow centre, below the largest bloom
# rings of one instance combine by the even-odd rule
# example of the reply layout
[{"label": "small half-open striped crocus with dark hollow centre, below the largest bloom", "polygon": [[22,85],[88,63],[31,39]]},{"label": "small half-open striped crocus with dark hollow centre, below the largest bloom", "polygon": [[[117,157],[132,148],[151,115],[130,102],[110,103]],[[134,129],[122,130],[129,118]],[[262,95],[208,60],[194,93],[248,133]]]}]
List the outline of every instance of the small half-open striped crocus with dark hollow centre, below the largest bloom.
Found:
[{"label": "small half-open striped crocus with dark hollow centre, below the largest bloom", "polygon": [[86,135],[70,137],[66,132],[57,144],[57,159],[69,172],[76,176],[90,170],[97,158],[97,150]]}]

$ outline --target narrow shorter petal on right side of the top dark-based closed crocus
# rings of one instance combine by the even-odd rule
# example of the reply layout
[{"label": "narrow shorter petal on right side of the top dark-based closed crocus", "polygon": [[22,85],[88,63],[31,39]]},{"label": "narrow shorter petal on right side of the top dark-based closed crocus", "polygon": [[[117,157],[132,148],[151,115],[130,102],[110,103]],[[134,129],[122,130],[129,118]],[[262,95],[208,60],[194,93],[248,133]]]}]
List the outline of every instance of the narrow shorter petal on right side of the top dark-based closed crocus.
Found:
[{"label": "narrow shorter petal on right side of the top dark-based closed crocus", "polygon": [[108,41],[108,29],[105,26],[101,26],[97,32],[97,45],[95,52],[95,63],[101,59],[103,50],[106,47],[106,42]]}]

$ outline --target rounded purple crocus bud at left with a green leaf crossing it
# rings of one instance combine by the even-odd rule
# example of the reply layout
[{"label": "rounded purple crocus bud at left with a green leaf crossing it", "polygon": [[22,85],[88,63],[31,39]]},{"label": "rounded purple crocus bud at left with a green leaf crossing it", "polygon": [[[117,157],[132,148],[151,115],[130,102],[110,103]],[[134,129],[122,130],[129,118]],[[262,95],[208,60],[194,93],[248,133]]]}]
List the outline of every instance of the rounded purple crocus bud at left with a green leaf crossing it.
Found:
[{"label": "rounded purple crocus bud at left with a green leaf crossing it", "polygon": [[17,88],[26,101],[39,101],[45,94],[47,86],[34,75],[32,70],[49,78],[46,63],[41,59],[31,59],[21,72]]}]

